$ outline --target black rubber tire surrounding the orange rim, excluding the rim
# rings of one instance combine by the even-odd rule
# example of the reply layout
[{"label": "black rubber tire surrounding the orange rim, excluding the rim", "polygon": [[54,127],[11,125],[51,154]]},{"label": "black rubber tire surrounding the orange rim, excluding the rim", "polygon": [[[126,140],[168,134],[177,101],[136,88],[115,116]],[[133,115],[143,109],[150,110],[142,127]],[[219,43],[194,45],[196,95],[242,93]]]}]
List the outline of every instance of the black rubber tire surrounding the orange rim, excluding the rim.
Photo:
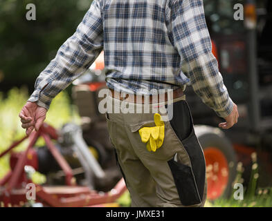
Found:
[{"label": "black rubber tire surrounding the orange rim, excluding the rim", "polygon": [[212,146],[214,148],[218,148],[226,158],[226,161],[228,162],[228,184],[220,197],[230,197],[230,194],[233,192],[233,182],[237,173],[237,157],[233,149],[233,145],[219,128],[197,125],[194,126],[194,129],[199,139],[199,143],[203,148],[204,154],[205,150]]}]

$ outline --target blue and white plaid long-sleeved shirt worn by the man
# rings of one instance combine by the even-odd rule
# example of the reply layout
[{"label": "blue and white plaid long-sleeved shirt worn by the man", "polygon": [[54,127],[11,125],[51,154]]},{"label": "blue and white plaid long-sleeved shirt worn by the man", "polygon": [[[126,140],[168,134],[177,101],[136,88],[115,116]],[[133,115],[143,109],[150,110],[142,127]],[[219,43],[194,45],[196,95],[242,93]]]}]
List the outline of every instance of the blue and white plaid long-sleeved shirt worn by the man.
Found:
[{"label": "blue and white plaid long-sleeved shirt worn by the man", "polygon": [[233,110],[212,55],[202,0],[93,0],[74,35],[37,78],[29,101],[48,109],[102,50],[109,88],[146,94],[192,85],[217,115]]}]

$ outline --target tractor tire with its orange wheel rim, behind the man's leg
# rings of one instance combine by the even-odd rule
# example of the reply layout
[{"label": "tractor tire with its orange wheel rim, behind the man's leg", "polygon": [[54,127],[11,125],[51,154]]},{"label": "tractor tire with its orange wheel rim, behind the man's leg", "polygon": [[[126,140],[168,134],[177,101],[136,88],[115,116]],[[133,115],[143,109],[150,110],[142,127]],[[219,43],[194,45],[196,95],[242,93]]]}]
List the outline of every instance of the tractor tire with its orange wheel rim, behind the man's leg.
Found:
[{"label": "tractor tire with its orange wheel rim, behind the man's leg", "polygon": [[237,172],[233,145],[219,128],[196,125],[194,130],[206,160],[207,199],[228,198]]}]

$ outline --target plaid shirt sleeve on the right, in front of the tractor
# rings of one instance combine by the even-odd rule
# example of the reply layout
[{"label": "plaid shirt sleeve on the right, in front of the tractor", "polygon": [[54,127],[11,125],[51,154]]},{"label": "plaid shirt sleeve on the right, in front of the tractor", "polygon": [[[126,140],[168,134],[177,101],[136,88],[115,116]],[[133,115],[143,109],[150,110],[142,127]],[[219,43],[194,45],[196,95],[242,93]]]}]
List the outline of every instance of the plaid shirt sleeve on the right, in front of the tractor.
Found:
[{"label": "plaid shirt sleeve on the right, in front of the tractor", "polygon": [[166,13],[172,44],[181,56],[181,70],[190,79],[194,92],[219,117],[233,111],[212,44],[202,0],[174,0]]}]

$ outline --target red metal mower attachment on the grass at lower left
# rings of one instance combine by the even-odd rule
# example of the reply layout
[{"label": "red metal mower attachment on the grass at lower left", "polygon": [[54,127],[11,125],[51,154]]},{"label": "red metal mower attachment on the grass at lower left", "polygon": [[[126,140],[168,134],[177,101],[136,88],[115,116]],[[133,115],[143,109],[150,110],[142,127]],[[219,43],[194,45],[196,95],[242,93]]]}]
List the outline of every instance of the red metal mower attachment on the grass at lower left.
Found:
[{"label": "red metal mower attachment on the grass at lower left", "polygon": [[[82,206],[116,206],[114,202],[126,190],[123,178],[114,186],[111,191],[101,192],[92,190],[89,186],[79,186],[73,177],[73,170],[62,156],[52,140],[57,140],[58,134],[55,128],[43,124],[38,132],[33,131],[28,136],[12,144],[6,151],[0,153],[0,158],[10,153],[11,170],[0,180],[0,206],[24,206],[28,203],[26,193],[27,184],[33,183],[28,170],[38,170],[39,164],[37,152],[34,145],[39,137],[43,137],[47,148],[53,155],[55,161],[64,171],[66,186],[42,186],[35,184],[35,202],[42,206],[56,207],[82,207]],[[28,139],[29,144],[26,151],[13,153],[12,149],[21,142]]]}]

